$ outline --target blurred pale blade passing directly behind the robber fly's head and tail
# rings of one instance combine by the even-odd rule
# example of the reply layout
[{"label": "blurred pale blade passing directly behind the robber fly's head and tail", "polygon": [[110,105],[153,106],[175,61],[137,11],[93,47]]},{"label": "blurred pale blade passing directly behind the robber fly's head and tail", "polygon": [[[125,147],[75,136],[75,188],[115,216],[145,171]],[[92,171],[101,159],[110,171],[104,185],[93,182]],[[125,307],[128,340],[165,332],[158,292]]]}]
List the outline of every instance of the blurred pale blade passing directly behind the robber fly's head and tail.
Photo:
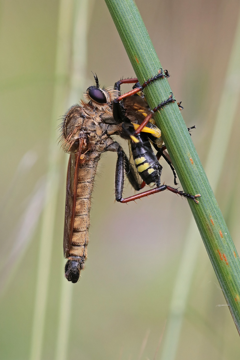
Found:
[{"label": "blurred pale blade passing directly behind the robber fly's head and tail", "polygon": [[[70,76],[70,95],[68,107],[78,103],[83,91],[85,91],[85,74],[87,66],[87,32],[89,24],[89,7],[92,1],[75,0],[74,1],[74,21],[73,21],[73,46],[70,59],[72,73]],[[68,164],[66,162],[66,169]],[[67,170],[66,170],[67,172]],[[65,259],[63,258],[63,266]],[[56,341],[56,360],[67,359],[68,339],[70,332],[71,304],[74,285],[69,283],[63,273],[61,275],[61,294],[59,306],[59,326]]]}]

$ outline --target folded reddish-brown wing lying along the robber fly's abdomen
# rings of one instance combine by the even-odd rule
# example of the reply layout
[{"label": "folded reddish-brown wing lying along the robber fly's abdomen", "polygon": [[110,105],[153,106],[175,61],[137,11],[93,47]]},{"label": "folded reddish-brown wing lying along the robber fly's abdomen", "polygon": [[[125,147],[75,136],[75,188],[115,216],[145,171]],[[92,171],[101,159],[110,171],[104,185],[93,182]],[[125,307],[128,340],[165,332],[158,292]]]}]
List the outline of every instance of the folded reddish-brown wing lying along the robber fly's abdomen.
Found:
[{"label": "folded reddish-brown wing lying along the robber fly's abdomen", "polygon": [[74,225],[74,214],[76,209],[78,169],[80,156],[82,152],[82,143],[80,141],[78,153],[71,153],[68,161],[67,187],[66,187],[66,205],[65,205],[65,223],[63,235],[63,252],[65,258],[68,257],[72,242],[72,233]]}]

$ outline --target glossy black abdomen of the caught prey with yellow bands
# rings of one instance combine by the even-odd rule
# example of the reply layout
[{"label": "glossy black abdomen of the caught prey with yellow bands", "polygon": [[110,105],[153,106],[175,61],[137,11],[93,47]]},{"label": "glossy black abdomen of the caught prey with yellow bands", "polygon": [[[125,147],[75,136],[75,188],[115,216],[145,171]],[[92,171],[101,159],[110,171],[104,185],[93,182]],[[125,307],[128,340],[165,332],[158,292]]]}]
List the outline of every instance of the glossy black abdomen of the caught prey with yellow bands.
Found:
[{"label": "glossy black abdomen of the caught prey with yellow bands", "polygon": [[162,166],[159,164],[148,139],[142,142],[142,135],[138,135],[138,143],[132,142],[132,156],[137,168],[137,172],[147,185],[153,187],[155,184],[160,186],[160,176]]}]

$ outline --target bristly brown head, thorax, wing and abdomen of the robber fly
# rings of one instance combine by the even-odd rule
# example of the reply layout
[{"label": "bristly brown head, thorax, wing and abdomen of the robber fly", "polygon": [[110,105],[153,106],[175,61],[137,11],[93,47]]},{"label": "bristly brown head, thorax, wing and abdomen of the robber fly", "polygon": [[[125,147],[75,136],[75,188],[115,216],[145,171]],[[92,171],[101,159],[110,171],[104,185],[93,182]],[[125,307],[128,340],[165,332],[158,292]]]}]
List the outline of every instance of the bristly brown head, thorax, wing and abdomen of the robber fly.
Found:
[{"label": "bristly brown head, thorax, wing and abdomen of the robber fly", "polygon": [[[133,175],[128,159],[121,146],[110,136],[120,134],[121,124],[113,124],[111,104],[119,91],[115,88],[100,89],[90,86],[84,94],[85,101],[73,105],[64,116],[62,123],[62,146],[70,153],[67,171],[67,189],[64,225],[65,277],[76,283],[84,267],[89,242],[89,213],[94,177],[100,155],[106,151],[118,154],[118,166],[126,169],[130,183]],[[104,123],[101,116],[109,123]],[[123,174],[124,175],[124,174]],[[117,189],[122,193],[122,178],[117,178]]]}]

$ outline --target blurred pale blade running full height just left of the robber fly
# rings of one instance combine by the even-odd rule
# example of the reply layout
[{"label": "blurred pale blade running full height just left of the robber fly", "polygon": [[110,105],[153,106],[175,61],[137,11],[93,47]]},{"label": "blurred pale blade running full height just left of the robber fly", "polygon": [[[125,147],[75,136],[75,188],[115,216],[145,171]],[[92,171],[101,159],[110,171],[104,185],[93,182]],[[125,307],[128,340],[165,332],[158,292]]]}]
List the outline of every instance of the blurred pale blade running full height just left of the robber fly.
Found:
[{"label": "blurred pale blade running full height just left of the robber fly", "polygon": [[37,270],[36,300],[33,316],[31,360],[40,360],[46,314],[47,290],[50,278],[56,204],[59,189],[59,165],[62,153],[58,147],[57,119],[65,112],[68,98],[70,39],[72,31],[72,0],[60,0],[55,62],[55,85],[50,126],[49,164],[46,202],[40,236],[39,265]]}]

